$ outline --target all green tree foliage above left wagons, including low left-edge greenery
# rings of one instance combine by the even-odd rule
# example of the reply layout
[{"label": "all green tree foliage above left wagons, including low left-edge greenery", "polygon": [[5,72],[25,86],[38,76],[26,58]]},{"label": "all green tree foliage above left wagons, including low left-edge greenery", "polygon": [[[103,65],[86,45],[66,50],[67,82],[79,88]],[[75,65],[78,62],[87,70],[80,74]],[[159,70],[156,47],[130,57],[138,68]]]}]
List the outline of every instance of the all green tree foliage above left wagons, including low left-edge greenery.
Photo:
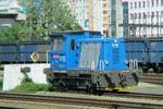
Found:
[{"label": "all green tree foliage above left wagons, including low left-edge greenery", "polygon": [[70,7],[63,0],[20,0],[27,15],[11,27],[0,28],[0,41],[43,40],[51,33],[82,31]]}]

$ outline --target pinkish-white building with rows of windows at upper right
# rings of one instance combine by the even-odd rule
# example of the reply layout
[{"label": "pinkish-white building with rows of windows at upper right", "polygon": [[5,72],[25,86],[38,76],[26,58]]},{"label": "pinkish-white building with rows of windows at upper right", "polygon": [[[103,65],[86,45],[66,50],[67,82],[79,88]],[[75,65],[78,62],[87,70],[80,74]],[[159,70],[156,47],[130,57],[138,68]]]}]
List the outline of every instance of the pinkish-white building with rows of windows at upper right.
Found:
[{"label": "pinkish-white building with rows of windows at upper right", "polygon": [[163,36],[163,0],[123,0],[123,10],[126,37]]}]

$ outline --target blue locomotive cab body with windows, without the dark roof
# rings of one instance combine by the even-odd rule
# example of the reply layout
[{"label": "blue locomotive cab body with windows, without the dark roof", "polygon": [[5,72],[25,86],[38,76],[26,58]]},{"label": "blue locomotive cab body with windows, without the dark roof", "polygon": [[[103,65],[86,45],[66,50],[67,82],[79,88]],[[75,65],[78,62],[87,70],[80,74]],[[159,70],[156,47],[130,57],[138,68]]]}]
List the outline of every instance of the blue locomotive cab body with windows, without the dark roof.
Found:
[{"label": "blue locomotive cab body with windows, without the dark roof", "polygon": [[[68,70],[75,65],[76,37],[57,35],[52,38],[52,51],[50,52],[51,70]],[[70,58],[71,57],[71,58]]]}]

